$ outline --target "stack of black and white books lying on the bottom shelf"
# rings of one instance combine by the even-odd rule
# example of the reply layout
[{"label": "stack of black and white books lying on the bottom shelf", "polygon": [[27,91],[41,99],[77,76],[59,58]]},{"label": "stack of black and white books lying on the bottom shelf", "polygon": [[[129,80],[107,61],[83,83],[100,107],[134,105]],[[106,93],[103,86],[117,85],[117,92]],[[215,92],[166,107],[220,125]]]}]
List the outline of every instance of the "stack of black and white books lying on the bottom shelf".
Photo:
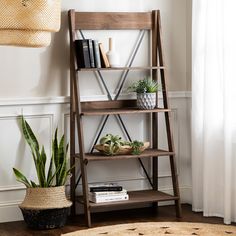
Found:
[{"label": "stack of black and white books lying on the bottom shelf", "polygon": [[129,200],[127,190],[114,183],[90,184],[89,190],[89,201],[94,203]]}]

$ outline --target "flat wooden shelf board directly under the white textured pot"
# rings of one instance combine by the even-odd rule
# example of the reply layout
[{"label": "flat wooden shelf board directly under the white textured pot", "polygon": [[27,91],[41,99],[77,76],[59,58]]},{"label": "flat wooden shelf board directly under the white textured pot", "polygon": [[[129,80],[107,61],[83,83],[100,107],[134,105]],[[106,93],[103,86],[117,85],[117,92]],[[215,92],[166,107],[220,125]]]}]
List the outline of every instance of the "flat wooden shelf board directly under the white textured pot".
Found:
[{"label": "flat wooden shelf board directly under the white textured pot", "polygon": [[114,109],[100,109],[100,110],[83,110],[80,114],[85,116],[99,116],[99,115],[117,115],[117,114],[136,114],[136,113],[154,113],[154,112],[170,112],[171,109],[154,108],[141,110],[137,107],[129,108],[114,108]]}]

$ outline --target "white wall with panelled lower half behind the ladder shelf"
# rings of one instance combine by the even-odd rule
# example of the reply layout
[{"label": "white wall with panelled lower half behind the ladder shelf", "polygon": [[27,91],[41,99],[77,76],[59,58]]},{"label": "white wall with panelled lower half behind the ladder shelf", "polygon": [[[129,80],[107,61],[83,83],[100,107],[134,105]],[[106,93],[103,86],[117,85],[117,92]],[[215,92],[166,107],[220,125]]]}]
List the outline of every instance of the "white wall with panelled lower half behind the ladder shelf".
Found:
[{"label": "white wall with panelled lower half behind the ladder shelf", "polygon": [[[58,124],[61,132],[69,136],[69,54],[67,11],[74,8],[79,11],[149,11],[160,9],[163,27],[164,50],[168,67],[169,90],[173,108],[174,137],[177,149],[177,164],[179,171],[181,198],[183,202],[191,202],[191,165],[189,144],[189,105],[190,96],[186,92],[189,87],[189,0],[62,0],[62,27],[53,35],[52,44],[48,48],[31,49],[0,46],[0,222],[21,219],[17,205],[22,201],[24,186],[17,183],[12,174],[12,167],[21,168],[34,178],[32,159],[27,146],[22,139],[17,116],[25,114],[30,124],[37,132],[39,140],[50,153],[50,138]],[[138,32],[102,32],[94,36],[93,32],[85,32],[88,37],[98,37],[107,47],[107,38],[116,38],[117,47],[126,62],[130,47]],[[127,40],[129,39],[129,40]],[[125,42],[125,43],[124,43]],[[145,36],[144,46],[140,48],[134,63],[147,63],[148,56],[145,47],[148,36]],[[111,92],[114,92],[120,74],[105,74],[105,80]],[[82,95],[86,99],[99,99],[103,91],[94,83],[92,74],[83,74],[81,79]],[[143,77],[141,73],[129,75],[129,79]],[[111,79],[112,78],[112,79]],[[140,118],[135,117],[139,122]],[[97,121],[92,121],[90,132],[95,129]],[[126,119],[134,137],[146,137],[145,124],[137,130],[130,118]],[[107,129],[120,132],[111,120]],[[140,121],[141,122],[141,121]],[[87,123],[86,123],[87,124]],[[106,131],[106,130],[105,130]],[[104,131],[104,132],[105,132]],[[86,133],[86,146],[91,139]],[[160,138],[164,138],[164,133]],[[165,144],[165,141],[163,141]],[[146,163],[150,165],[149,162]],[[108,163],[113,167],[113,163]],[[90,181],[120,181],[128,189],[146,188],[147,182],[137,163],[118,163],[119,168],[110,175],[107,164],[99,164],[98,169],[91,166],[93,175]],[[164,191],[171,191],[170,172],[167,162],[160,164],[160,186]],[[122,171],[121,171],[122,170]],[[128,170],[128,172],[127,172]],[[102,174],[101,174],[102,173]]]}]

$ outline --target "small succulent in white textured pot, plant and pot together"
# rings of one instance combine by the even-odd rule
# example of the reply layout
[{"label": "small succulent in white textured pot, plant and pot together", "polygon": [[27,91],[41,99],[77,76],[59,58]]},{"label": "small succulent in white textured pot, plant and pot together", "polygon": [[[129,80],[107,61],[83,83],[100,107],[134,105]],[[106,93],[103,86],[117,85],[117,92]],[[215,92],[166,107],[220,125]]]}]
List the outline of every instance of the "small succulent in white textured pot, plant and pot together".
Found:
[{"label": "small succulent in white textured pot, plant and pot together", "polygon": [[154,109],[156,106],[156,93],[158,90],[157,81],[151,78],[144,78],[133,83],[130,91],[137,93],[137,106],[140,109]]}]

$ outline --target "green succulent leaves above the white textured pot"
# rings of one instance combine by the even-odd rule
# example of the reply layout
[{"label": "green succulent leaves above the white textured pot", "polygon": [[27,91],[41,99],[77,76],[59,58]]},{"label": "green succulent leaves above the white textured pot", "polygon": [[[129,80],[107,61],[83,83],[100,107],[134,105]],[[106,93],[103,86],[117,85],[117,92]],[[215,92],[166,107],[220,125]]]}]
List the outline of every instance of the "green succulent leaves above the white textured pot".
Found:
[{"label": "green succulent leaves above the white textured pot", "polygon": [[128,90],[136,93],[155,93],[158,90],[158,86],[157,81],[145,78],[133,83],[128,87]]}]

